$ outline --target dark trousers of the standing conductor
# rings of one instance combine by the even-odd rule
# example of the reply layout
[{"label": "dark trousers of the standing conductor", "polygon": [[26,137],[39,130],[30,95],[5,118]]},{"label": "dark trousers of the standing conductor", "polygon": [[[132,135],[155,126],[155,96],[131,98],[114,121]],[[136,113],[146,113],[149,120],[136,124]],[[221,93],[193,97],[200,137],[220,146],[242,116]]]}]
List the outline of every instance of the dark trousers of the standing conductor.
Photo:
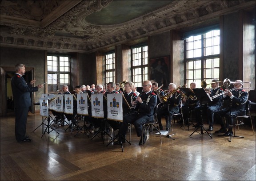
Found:
[{"label": "dark trousers of the standing conductor", "polygon": [[26,125],[28,119],[29,107],[15,108],[15,137],[17,141],[21,141],[26,135]]}]

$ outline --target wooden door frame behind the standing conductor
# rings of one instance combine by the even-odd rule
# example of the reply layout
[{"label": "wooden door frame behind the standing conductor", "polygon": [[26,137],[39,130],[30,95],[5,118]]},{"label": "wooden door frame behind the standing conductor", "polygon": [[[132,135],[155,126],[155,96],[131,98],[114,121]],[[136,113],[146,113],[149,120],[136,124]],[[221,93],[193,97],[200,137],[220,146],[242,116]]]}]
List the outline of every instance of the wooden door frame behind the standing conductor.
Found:
[{"label": "wooden door frame behind the standing conductor", "polygon": [[[14,67],[1,66],[0,67],[0,116],[6,116],[7,114],[7,86],[6,86],[6,73],[15,72]],[[26,72],[30,72],[32,75],[32,80],[34,80],[34,67],[26,67]],[[31,112],[35,113],[34,106],[35,94],[32,93],[31,99]]]}]

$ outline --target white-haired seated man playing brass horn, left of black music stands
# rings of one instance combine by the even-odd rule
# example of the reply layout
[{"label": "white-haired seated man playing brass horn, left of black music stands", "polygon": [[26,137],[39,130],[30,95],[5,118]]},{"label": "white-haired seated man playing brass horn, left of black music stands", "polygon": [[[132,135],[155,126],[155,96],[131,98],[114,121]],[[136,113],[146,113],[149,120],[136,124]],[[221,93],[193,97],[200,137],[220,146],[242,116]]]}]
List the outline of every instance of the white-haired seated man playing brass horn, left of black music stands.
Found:
[{"label": "white-haired seated man playing brass horn, left of black music stands", "polygon": [[[168,86],[168,93],[170,94],[173,91],[175,91],[176,85],[173,83],[170,83]],[[179,113],[179,104],[181,100],[181,93],[179,91],[175,91],[172,93],[172,95],[169,95],[167,98],[167,102],[164,102],[163,108],[157,112],[157,119],[159,124],[161,122],[162,116],[165,116],[165,121],[166,121],[166,131],[170,129],[171,126],[171,121],[172,121],[172,116],[174,114]]]}]

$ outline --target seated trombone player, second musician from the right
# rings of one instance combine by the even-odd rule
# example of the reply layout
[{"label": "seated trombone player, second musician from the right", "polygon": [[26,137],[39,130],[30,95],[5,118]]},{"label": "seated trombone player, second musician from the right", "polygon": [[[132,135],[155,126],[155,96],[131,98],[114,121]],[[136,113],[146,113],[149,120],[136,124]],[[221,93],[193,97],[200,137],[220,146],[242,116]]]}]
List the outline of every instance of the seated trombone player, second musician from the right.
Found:
[{"label": "seated trombone player, second musician from the right", "polygon": [[[219,80],[218,79],[212,79],[212,89],[208,90],[205,89],[205,91],[210,95],[210,97],[215,96],[217,94],[220,94],[223,91],[223,89],[220,89],[219,87]],[[200,125],[203,125],[202,123],[202,113],[207,114],[207,123],[209,124],[208,131],[213,131],[213,114],[214,112],[220,110],[220,107],[222,106],[222,96],[217,96],[216,98],[212,99],[212,101],[208,101],[207,104],[201,104],[200,106],[197,106],[195,108],[195,114],[196,114],[196,120],[198,123],[196,123],[193,127],[200,127]]]}]

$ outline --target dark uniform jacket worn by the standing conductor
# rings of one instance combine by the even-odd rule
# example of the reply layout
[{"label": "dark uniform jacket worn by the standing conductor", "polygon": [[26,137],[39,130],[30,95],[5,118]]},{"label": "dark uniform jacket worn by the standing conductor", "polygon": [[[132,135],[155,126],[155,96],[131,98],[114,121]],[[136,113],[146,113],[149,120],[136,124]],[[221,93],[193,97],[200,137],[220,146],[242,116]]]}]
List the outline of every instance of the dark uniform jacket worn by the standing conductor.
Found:
[{"label": "dark uniform jacket worn by the standing conductor", "polygon": [[14,108],[30,107],[30,92],[36,92],[38,88],[32,87],[30,83],[27,84],[24,78],[19,74],[15,74],[15,76],[12,77],[11,85]]}]

